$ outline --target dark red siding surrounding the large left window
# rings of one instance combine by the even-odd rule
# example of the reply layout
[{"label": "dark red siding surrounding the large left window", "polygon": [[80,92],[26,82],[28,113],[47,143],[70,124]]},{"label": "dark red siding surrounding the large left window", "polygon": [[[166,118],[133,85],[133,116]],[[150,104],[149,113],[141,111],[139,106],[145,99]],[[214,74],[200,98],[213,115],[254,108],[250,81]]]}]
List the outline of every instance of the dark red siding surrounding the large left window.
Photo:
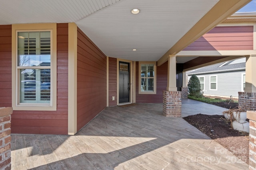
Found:
[{"label": "dark red siding surrounding the large left window", "polygon": [[[8,29],[4,29],[8,27]],[[0,25],[5,32],[4,37],[0,37],[0,42],[5,44],[0,47],[0,60],[4,60],[6,65],[0,80],[0,106],[12,107],[11,99],[11,42],[6,38],[11,38],[9,25]],[[57,110],[56,111],[19,111],[14,110],[11,121],[12,133],[32,133],[32,134],[67,134],[68,131],[68,24],[57,24]],[[2,64],[2,62],[0,62]],[[8,76],[8,77],[6,77]],[[4,78],[5,77],[5,78]],[[2,84],[4,86],[2,86]]]}]

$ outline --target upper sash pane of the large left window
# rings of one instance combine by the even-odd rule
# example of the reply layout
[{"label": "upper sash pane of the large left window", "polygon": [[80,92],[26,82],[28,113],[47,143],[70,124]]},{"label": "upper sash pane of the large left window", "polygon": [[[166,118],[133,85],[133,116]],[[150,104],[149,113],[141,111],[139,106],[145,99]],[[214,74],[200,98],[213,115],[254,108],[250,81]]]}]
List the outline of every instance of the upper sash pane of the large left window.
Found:
[{"label": "upper sash pane of the large left window", "polygon": [[50,31],[18,32],[18,66],[50,66]]}]

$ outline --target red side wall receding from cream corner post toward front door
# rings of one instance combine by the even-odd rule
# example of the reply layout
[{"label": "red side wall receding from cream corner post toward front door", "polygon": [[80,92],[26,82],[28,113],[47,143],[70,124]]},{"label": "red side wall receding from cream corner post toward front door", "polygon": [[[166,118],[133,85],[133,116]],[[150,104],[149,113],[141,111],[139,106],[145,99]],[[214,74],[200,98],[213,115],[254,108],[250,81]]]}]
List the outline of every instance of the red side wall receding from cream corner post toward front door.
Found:
[{"label": "red side wall receding from cream corner post toward front door", "polygon": [[77,130],[106,107],[106,55],[78,28]]}]

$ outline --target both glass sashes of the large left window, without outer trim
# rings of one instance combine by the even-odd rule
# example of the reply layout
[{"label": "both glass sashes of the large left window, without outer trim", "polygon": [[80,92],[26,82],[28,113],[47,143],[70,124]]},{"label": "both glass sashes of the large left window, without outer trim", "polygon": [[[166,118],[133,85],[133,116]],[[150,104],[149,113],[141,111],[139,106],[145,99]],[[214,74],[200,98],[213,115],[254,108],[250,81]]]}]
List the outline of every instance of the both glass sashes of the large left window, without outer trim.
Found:
[{"label": "both glass sashes of the large left window, without outer trim", "polygon": [[50,104],[50,31],[18,32],[19,103]]}]

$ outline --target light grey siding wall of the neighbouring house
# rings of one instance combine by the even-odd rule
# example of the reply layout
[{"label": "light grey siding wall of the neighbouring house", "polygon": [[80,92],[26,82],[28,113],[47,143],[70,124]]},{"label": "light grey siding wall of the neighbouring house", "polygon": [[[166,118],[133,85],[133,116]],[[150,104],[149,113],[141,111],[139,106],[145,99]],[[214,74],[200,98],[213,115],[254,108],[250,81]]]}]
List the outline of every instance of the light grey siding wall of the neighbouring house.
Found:
[{"label": "light grey siding wall of the neighbouring house", "polygon": [[[204,77],[204,95],[238,97],[238,92],[242,91],[243,74],[245,70],[196,74],[196,76]],[[217,90],[210,90],[210,76],[217,76]],[[188,80],[190,77],[188,76]]]}]

